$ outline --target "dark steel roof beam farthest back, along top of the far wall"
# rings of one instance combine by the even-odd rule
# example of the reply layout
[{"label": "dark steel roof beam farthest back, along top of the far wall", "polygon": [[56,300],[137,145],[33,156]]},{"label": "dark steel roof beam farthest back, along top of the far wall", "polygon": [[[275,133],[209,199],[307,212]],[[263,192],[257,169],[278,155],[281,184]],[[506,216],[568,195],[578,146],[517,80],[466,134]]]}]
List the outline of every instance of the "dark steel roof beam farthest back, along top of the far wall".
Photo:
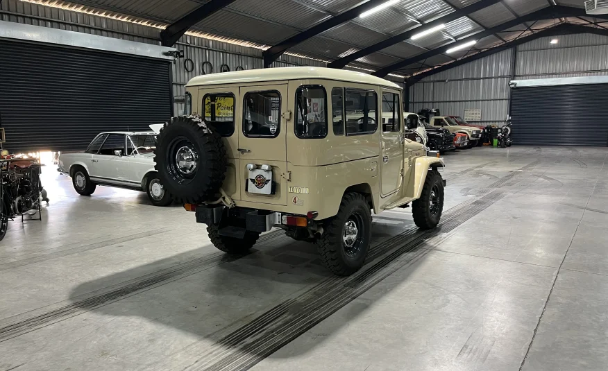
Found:
[{"label": "dark steel roof beam farthest back, along top of the far wall", "polygon": [[481,58],[485,58],[489,55],[499,53],[500,51],[505,51],[514,46],[518,46],[518,45],[524,44],[526,42],[530,42],[532,40],[537,40],[541,37],[557,36],[557,35],[571,35],[571,34],[575,34],[575,33],[595,33],[596,35],[608,36],[608,30],[603,29],[603,28],[593,28],[593,27],[588,27],[588,26],[582,26],[579,24],[559,24],[558,26],[546,28],[543,31],[533,33],[532,35],[509,41],[505,44],[493,47],[487,51],[482,51],[480,53],[471,55],[470,57],[462,58],[455,62],[446,63],[446,64],[441,65],[440,67],[436,67],[434,69],[425,71],[422,74],[412,76],[410,78],[407,78],[407,80],[405,80],[405,84],[408,87],[412,86],[415,83],[418,83],[420,80],[422,80],[423,78],[426,78],[428,76],[438,74],[439,72],[446,71],[448,69],[453,69],[454,67],[462,66],[462,64],[466,64],[468,62],[473,62],[473,60],[479,60]]}]

